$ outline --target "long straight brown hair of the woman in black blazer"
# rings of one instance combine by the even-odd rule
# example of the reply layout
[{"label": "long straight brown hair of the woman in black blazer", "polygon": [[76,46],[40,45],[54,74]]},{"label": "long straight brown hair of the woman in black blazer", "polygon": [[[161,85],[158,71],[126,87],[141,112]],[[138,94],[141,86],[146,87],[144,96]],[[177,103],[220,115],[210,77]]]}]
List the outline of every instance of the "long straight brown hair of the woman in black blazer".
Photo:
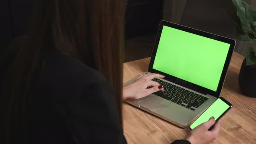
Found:
[{"label": "long straight brown hair of the woman in black blazer", "polygon": [[102,72],[116,91],[120,122],[125,0],[36,0],[26,41],[10,66],[0,99],[1,144],[26,134],[30,79],[56,49]]}]

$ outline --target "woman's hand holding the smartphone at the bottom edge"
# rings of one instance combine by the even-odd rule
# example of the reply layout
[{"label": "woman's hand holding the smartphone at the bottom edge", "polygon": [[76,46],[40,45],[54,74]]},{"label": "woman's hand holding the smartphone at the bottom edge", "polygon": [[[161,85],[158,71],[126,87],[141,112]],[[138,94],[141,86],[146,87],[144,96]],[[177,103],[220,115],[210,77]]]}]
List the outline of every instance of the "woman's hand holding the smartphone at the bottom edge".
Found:
[{"label": "woman's hand holding the smartphone at the bottom edge", "polygon": [[208,131],[213,124],[215,124],[215,120],[214,118],[210,118],[209,121],[200,124],[190,131],[186,140],[190,141],[191,144],[209,144],[213,142],[220,131],[220,121],[214,125],[211,131]]}]

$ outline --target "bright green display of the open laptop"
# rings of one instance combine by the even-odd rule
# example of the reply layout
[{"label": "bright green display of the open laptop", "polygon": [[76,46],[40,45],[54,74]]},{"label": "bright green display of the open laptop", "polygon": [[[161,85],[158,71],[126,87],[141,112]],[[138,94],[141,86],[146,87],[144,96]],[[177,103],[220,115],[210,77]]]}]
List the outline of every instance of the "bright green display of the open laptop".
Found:
[{"label": "bright green display of the open laptop", "polygon": [[230,44],[164,26],[153,69],[217,91]]}]

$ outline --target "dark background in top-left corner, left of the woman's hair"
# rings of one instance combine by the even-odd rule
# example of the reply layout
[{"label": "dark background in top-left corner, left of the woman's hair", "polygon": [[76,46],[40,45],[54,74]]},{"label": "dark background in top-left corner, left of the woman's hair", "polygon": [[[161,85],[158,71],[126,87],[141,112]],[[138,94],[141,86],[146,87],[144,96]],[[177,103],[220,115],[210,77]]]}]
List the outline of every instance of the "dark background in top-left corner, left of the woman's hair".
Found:
[{"label": "dark background in top-left corner, left of the woman's hair", "polygon": [[26,33],[32,6],[33,0],[0,1],[0,55],[11,39]]}]

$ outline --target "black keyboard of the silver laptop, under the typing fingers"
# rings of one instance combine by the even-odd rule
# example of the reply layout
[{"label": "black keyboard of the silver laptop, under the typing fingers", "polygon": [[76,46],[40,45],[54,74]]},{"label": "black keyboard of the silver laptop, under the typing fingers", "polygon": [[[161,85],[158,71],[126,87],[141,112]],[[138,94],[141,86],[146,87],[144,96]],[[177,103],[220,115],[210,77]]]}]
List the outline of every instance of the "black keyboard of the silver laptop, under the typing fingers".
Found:
[{"label": "black keyboard of the silver laptop, under the typing fingers", "polygon": [[[181,105],[192,111],[199,108],[200,105],[202,105],[205,101],[209,99],[207,97],[204,97],[203,95],[190,92],[189,90],[181,88],[177,85],[172,85],[171,83],[164,82],[161,79],[154,78],[152,80],[158,82],[160,85],[163,85],[165,90],[164,92],[155,92],[155,95],[165,98],[168,101],[174,102],[177,105]],[[151,86],[148,88],[151,88]]]}]

